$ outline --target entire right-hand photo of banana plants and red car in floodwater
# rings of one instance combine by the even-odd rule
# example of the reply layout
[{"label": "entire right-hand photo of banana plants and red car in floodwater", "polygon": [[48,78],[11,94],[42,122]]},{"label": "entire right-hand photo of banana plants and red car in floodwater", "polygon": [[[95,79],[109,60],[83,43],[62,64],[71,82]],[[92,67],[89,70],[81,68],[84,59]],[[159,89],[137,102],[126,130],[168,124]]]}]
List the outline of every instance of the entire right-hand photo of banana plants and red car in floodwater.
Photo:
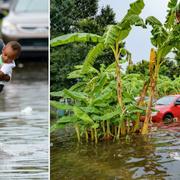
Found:
[{"label": "entire right-hand photo of banana plants and red car in floodwater", "polygon": [[50,1],[51,180],[180,179],[180,2]]}]

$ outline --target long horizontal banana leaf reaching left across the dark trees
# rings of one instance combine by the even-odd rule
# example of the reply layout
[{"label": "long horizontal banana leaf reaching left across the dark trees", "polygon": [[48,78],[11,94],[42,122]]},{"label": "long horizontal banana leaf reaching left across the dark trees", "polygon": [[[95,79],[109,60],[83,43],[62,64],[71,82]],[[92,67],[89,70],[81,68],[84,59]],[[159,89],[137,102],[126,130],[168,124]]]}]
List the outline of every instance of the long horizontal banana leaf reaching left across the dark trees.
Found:
[{"label": "long horizontal banana leaf reaching left across the dark trees", "polygon": [[102,41],[102,37],[91,33],[72,33],[58,36],[51,40],[52,47],[69,44],[73,42],[94,42],[99,43]]}]

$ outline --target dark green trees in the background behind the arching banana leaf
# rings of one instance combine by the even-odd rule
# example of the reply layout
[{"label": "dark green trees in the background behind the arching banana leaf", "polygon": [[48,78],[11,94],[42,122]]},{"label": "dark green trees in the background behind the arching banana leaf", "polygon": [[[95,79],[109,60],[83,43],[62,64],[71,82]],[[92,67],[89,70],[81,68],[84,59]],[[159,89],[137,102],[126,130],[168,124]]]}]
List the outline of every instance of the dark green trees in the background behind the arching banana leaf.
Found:
[{"label": "dark green trees in the background behind the arching banana leaf", "polygon": [[[91,5],[90,5],[91,4]],[[82,8],[80,8],[82,7]],[[98,4],[97,1],[79,1],[79,0],[52,0],[51,1],[51,37],[62,34],[77,32],[93,32],[102,34],[104,31],[104,24],[101,21],[97,22]],[[106,7],[104,8],[106,12]],[[108,18],[108,12],[110,18]],[[98,17],[106,19],[106,24],[114,22],[112,9],[107,8],[105,13],[100,14]],[[74,68],[74,65],[81,64],[87,54],[88,50],[93,46],[92,43],[86,44],[73,44],[61,46],[59,48],[51,48],[51,91],[62,90],[69,88],[74,80],[68,80],[66,77]],[[77,52],[71,54],[69,52]],[[101,63],[111,64],[112,53],[106,51],[104,55],[98,58],[96,67],[100,67]]]}]

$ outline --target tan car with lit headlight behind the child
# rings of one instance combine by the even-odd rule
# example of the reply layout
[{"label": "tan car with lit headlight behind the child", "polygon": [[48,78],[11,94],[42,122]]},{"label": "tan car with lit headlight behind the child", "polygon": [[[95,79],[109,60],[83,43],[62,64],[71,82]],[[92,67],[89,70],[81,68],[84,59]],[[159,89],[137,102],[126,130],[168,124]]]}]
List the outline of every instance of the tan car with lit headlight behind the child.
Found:
[{"label": "tan car with lit headlight behind the child", "polygon": [[2,39],[22,45],[22,56],[48,56],[48,0],[13,0],[2,21]]}]

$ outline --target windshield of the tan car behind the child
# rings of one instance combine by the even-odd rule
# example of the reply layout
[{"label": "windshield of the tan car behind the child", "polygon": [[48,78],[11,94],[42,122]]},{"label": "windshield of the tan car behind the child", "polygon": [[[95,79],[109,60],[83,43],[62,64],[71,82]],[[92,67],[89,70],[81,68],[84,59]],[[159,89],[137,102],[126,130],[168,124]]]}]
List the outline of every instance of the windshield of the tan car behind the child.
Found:
[{"label": "windshield of the tan car behind the child", "polygon": [[48,0],[18,0],[15,12],[48,12]]}]

